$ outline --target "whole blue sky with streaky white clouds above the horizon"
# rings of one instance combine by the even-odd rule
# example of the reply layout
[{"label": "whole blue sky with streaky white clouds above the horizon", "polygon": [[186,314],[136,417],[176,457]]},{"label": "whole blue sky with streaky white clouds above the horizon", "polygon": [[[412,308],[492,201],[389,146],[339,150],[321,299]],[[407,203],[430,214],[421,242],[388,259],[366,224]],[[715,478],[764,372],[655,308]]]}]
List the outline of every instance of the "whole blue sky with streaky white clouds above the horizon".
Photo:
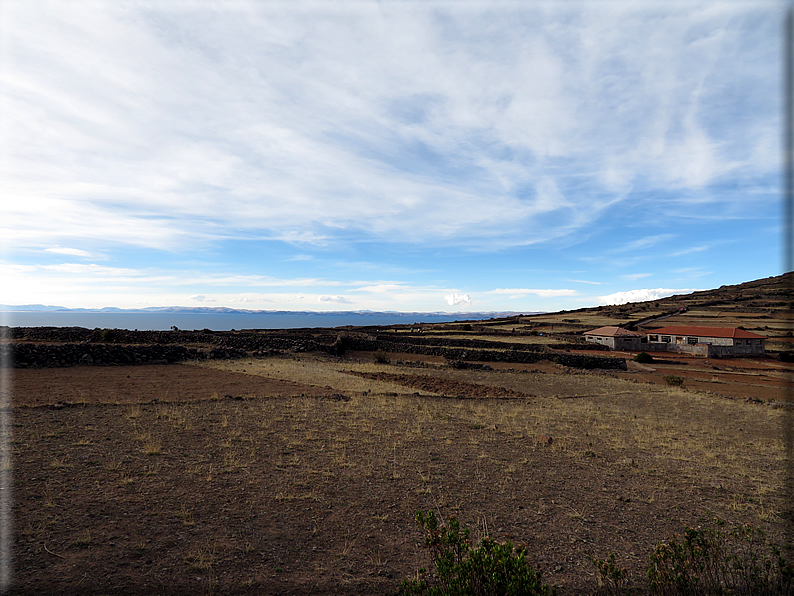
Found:
[{"label": "whole blue sky with streaky white clouds above the horizon", "polygon": [[781,271],[781,2],[5,2],[0,303],[539,311]]}]

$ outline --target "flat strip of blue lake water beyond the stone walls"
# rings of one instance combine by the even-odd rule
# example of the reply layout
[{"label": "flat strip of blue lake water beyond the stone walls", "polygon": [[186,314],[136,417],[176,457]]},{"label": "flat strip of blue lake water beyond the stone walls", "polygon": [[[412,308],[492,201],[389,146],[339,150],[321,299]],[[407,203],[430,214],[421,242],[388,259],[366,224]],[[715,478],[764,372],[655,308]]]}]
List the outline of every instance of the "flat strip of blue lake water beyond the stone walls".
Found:
[{"label": "flat strip of blue lake water beyond the stone walls", "polygon": [[[85,327],[87,329],[139,329],[167,331],[172,326],[192,331],[212,329],[299,329],[303,327],[342,327],[345,325],[413,325],[449,323],[483,318],[482,313],[449,315],[423,313],[81,313],[81,312],[3,312],[0,323],[10,327]],[[487,318],[487,317],[486,317]]]}]

